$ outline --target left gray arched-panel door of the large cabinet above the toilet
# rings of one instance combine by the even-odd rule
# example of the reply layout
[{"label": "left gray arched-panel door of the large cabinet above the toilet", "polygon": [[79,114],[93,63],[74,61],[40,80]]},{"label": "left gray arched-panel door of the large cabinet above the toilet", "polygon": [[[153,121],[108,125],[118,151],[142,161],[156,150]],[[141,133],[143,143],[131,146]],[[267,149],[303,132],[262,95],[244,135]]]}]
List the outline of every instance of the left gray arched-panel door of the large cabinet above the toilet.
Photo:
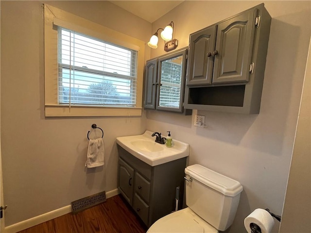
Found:
[{"label": "left gray arched-panel door of the large cabinet above the toilet", "polygon": [[187,85],[211,84],[217,25],[190,35]]}]

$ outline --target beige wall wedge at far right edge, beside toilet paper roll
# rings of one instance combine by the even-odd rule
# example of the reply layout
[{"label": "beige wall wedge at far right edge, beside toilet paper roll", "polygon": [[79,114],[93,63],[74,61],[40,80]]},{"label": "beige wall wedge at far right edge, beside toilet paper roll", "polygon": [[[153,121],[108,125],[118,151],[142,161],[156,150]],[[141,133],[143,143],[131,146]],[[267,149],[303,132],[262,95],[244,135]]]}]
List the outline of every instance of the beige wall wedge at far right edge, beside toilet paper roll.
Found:
[{"label": "beige wall wedge at far right edge, beside toilet paper roll", "polygon": [[280,232],[311,232],[311,47],[307,64]]}]

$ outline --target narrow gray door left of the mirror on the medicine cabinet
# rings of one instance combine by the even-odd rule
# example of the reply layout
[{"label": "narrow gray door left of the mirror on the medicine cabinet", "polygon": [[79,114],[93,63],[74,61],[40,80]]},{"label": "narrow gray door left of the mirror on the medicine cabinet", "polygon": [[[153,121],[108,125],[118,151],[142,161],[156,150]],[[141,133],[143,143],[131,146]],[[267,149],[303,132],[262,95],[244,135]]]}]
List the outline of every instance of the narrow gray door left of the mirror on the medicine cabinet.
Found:
[{"label": "narrow gray door left of the mirror on the medicine cabinet", "polygon": [[145,70],[144,107],[155,109],[157,59],[147,61]]}]

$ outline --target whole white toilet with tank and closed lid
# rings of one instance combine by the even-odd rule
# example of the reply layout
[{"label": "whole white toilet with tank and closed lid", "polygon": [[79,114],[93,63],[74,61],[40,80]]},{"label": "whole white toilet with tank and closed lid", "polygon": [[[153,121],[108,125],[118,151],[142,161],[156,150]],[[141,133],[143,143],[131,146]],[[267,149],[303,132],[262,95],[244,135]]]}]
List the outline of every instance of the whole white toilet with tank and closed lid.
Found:
[{"label": "whole white toilet with tank and closed lid", "polygon": [[242,185],[198,164],[185,173],[188,207],[160,218],[147,233],[218,233],[232,224]]}]

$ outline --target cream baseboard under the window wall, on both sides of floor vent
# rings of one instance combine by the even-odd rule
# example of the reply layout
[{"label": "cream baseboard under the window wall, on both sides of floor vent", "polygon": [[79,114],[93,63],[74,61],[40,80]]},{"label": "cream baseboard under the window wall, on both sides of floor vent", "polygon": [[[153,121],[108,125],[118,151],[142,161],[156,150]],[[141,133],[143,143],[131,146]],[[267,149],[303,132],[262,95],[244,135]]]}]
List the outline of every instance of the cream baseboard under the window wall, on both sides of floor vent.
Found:
[{"label": "cream baseboard under the window wall, on both sides of floor vent", "polygon": [[[116,196],[118,194],[119,194],[118,189],[114,189],[109,192],[106,192],[106,199]],[[16,232],[25,230],[27,228],[33,227],[35,225],[38,225],[40,223],[49,221],[55,217],[66,215],[70,212],[71,212],[71,205],[67,205],[57,210],[53,210],[51,212],[45,213],[43,215],[35,216],[27,220],[17,222],[13,225],[7,226],[4,228],[4,233],[16,233]]]}]

